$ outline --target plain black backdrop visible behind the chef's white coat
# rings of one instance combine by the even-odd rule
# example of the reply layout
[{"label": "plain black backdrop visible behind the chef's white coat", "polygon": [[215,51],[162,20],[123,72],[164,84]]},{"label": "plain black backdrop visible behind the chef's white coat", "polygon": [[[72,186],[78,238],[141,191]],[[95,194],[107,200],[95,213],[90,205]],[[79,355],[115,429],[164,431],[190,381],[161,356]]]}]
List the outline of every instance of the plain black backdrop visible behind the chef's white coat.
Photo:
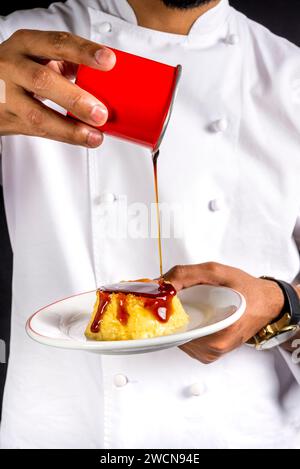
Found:
[{"label": "plain black backdrop visible behind the chef's white coat", "polygon": [[[22,4],[22,8],[35,8],[47,7],[52,2],[36,0],[21,3],[10,0],[5,4],[1,3],[0,15],[7,15],[20,9],[20,4]],[[300,0],[232,0],[230,3],[276,34],[284,36],[300,46]],[[12,254],[5,223],[2,194],[0,195],[0,246],[0,339],[8,342]],[[0,364],[0,403],[5,373],[6,366]]]}]

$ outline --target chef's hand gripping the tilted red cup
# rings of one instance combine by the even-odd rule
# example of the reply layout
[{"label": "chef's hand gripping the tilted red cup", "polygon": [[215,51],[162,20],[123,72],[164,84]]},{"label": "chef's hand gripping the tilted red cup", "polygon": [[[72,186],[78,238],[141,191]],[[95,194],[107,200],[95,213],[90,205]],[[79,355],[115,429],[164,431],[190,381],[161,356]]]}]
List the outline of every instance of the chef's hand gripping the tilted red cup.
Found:
[{"label": "chef's hand gripping the tilted red cup", "polygon": [[[6,102],[0,104],[0,135],[32,135],[86,147],[102,143],[107,109],[73,84],[78,64],[107,71],[115,54],[67,32],[19,30],[0,45],[0,79]],[[64,117],[41,99],[70,111],[85,123]]]}]

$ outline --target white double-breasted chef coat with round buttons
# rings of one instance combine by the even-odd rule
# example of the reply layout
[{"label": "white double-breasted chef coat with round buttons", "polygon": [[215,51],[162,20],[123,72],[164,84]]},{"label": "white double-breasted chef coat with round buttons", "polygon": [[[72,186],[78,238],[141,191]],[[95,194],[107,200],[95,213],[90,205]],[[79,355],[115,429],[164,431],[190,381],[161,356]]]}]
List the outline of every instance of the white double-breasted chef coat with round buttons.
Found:
[{"label": "white double-breasted chef coat with round buttons", "polygon": [[[139,27],[126,0],[69,0],[0,21],[2,39],[19,28],[68,30],[181,63],[159,184],[163,204],[184,208],[176,223],[185,230],[163,240],[165,270],[218,261],[293,280],[300,205],[296,46],[227,0],[188,36]],[[279,350],[242,347],[205,366],[179,349],[107,357],[49,348],[26,336],[26,319],[47,303],[157,275],[155,239],[103,233],[125,197],[150,207],[153,173],[147,150],[109,137],[91,150],[24,136],[4,137],[2,144],[14,251],[2,447],[299,447],[299,365]],[[138,230],[134,213],[130,223]]]}]

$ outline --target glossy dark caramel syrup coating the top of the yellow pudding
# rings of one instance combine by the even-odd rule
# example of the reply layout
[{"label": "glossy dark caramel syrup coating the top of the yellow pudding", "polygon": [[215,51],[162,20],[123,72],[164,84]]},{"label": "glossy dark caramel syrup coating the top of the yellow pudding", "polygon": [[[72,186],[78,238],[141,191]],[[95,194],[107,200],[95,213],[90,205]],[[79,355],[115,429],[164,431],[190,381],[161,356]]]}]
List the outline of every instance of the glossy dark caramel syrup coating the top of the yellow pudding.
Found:
[{"label": "glossy dark caramel syrup coating the top of the yellow pudding", "polygon": [[173,312],[172,301],[176,295],[175,288],[163,280],[159,282],[139,281],[122,282],[115,285],[106,285],[97,290],[98,309],[91,326],[91,331],[99,332],[103,315],[111,301],[112,293],[118,295],[117,318],[121,324],[126,325],[129,313],[127,310],[127,296],[135,295],[151,311],[153,316],[160,322],[168,322]]}]

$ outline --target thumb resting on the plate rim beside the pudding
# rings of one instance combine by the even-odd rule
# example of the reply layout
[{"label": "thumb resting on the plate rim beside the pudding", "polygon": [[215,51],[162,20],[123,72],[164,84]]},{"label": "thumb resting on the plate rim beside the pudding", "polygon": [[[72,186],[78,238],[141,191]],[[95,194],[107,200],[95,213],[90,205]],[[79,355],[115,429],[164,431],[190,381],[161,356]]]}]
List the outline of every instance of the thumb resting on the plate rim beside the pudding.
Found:
[{"label": "thumb resting on the plate rim beside the pudding", "polygon": [[215,262],[177,265],[164,274],[164,279],[171,282],[176,290],[199,284],[226,285],[231,277],[230,267]]}]

